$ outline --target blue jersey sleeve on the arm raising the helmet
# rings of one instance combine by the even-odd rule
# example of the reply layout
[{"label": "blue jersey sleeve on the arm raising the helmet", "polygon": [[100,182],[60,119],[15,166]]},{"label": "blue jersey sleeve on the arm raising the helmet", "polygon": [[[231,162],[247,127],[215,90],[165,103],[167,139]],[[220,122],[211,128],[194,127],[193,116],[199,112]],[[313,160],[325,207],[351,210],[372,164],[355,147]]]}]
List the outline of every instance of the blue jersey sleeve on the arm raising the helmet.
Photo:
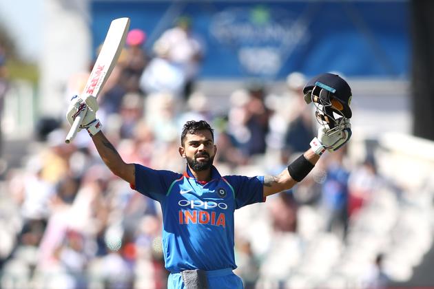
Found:
[{"label": "blue jersey sleeve on the arm raising the helmet", "polygon": [[263,176],[227,175],[225,179],[234,189],[236,208],[265,202]]}]

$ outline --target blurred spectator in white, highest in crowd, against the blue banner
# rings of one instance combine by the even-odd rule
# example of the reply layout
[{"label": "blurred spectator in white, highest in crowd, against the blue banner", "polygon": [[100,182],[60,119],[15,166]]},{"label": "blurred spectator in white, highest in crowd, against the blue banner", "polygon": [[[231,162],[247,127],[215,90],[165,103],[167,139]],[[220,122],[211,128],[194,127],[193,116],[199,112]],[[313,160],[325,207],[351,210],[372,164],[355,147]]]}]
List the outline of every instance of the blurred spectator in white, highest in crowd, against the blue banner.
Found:
[{"label": "blurred spectator in white, highest in crowd, against the blue banner", "polygon": [[165,52],[170,63],[178,65],[185,78],[181,94],[185,99],[194,91],[194,82],[203,59],[203,43],[192,32],[192,19],[180,17],[174,28],[165,31],[154,44],[157,54]]}]

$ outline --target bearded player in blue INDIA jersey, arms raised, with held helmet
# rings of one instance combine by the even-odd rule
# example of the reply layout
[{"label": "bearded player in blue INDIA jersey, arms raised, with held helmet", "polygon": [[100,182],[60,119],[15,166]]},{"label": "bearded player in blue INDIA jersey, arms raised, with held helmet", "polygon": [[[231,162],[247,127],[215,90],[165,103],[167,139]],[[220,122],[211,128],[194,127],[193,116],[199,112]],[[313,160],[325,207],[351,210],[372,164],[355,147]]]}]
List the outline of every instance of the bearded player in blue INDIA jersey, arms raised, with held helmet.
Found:
[{"label": "bearded player in blue INDIA jersey, arms raised, with held helmet", "polygon": [[[127,164],[102,133],[97,107],[85,107],[81,128],[90,133],[107,167],[161,204],[168,288],[242,288],[242,280],[232,272],[236,268],[234,211],[291,189],[313,169],[324,151],[335,151],[349,140],[349,85],[335,74],[321,74],[309,81],[304,94],[307,103],[316,105],[321,123],[311,149],[279,175],[254,178],[218,173],[213,166],[217,151],[214,130],[205,120],[188,121],[183,127],[179,147],[187,162],[183,174]],[[67,114],[70,123],[83,107],[83,100],[73,98]]]}]

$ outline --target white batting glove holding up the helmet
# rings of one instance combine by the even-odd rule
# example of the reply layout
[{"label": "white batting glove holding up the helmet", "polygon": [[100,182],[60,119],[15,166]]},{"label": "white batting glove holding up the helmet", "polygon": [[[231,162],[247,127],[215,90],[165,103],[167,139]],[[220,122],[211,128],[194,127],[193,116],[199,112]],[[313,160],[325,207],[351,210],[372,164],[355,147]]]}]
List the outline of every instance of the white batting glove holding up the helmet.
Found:
[{"label": "white batting glove holding up the helmet", "polygon": [[351,123],[348,118],[340,118],[338,125],[334,129],[320,127],[318,136],[311,141],[313,151],[319,156],[327,151],[340,149],[351,138]]}]

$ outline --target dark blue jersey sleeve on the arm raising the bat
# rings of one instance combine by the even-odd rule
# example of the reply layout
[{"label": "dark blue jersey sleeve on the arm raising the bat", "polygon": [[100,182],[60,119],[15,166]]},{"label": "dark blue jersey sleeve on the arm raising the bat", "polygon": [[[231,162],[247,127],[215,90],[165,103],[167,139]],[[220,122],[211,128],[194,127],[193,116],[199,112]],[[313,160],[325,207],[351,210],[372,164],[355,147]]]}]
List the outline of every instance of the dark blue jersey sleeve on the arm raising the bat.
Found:
[{"label": "dark blue jersey sleeve on the arm raising the bat", "polygon": [[141,164],[134,164],[134,166],[136,167],[136,184],[133,189],[158,202],[164,199],[170,184],[182,177],[181,174],[173,171],[150,169]]}]

